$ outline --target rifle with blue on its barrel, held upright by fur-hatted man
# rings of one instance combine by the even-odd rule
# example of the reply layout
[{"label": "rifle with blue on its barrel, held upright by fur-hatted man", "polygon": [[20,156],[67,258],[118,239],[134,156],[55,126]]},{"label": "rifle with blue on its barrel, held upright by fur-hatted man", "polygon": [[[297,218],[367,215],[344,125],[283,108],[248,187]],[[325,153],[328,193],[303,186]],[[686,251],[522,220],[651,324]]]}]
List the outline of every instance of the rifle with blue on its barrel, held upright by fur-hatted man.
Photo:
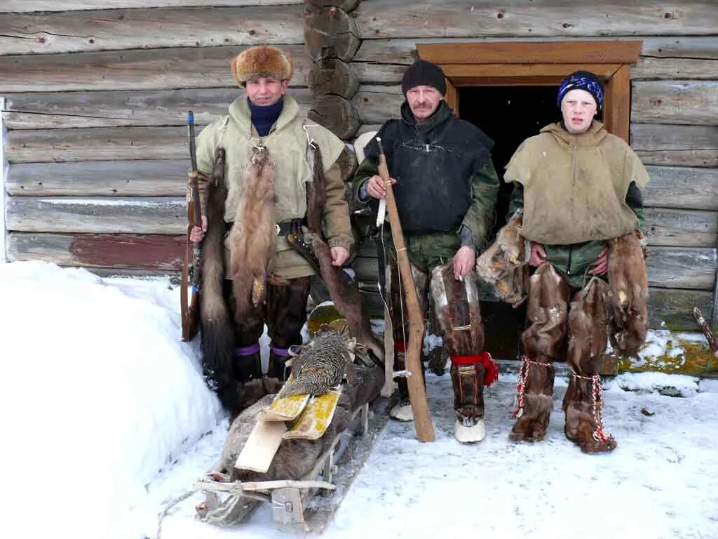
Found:
[{"label": "rifle with blue on its barrel, held upright by fur-hatted man", "polygon": [[190,162],[192,168],[187,171],[187,249],[185,263],[182,264],[182,287],[180,288],[180,308],[182,312],[182,341],[189,342],[197,335],[197,312],[200,308],[200,244],[190,241],[193,226],[202,226],[202,206],[200,205],[200,186],[197,183],[197,147],[195,145],[195,115],[187,113],[187,139],[190,143]]}]

